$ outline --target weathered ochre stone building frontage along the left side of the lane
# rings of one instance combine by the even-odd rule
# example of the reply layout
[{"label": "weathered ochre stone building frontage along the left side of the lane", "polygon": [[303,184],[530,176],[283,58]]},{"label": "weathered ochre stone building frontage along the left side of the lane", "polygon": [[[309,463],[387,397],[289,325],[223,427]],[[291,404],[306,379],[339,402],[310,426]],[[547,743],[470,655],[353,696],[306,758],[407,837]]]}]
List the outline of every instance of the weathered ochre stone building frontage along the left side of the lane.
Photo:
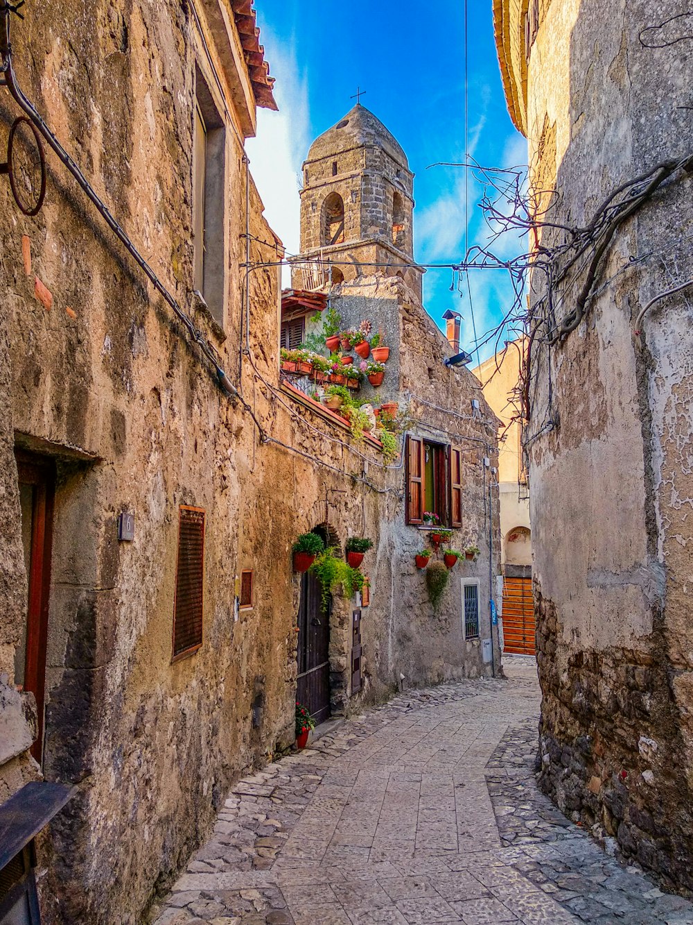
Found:
[{"label": "weathered ochre stone building frontage along the left side of the lane", "polygon": [[[76,785],[40,845],[44,919],[132,925],[231,780],[294,740],[299,533],[375,542],[370,605],[334,594],[328,710],[400,674],[491,670],[496,422],[482,400],[472,411],[472,377],[444,366],[450,347],[408,282],[419,271],[361,280],[353,297],[380,287],[411,332],[401,391],[460,451],[459,530],[481,548],[466,644],[459,582],[433,615],[415,568],[404,465],[383,466],[374,438],[354,446],[280,377],[283,250],[243,147],[256,105],[274,105],[250,4],[87,16],[47,2],[12,47],[19,84],[152,273],[48,143],[35,216],[3,180],[0,798],[42,776]],[[4,93],[2,130],[18,115]]]}]

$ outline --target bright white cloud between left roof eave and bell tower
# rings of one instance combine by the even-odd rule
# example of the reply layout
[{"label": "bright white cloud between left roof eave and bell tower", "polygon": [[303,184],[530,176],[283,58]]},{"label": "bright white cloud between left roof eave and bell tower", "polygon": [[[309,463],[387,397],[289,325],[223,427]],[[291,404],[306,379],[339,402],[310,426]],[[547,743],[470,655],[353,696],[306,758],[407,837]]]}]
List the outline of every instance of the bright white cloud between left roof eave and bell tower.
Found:
[{"label": "bright white cloud between left roof eave and bell tower", "polygon": [[[246,143],[250,173],[265,206],[265,216],[283,240],[287,253],[300,247],[301,164],[310,144],[308,80],[298,66],[296,46],[278,41],[267,28],[262,41],[271,49],[272,73],[276,77],[274,98],[279,112],[258,110],[257,137]],[[269,52],[268,52],[269,54]],[[288,267],[283,285],[289,285]]]}]

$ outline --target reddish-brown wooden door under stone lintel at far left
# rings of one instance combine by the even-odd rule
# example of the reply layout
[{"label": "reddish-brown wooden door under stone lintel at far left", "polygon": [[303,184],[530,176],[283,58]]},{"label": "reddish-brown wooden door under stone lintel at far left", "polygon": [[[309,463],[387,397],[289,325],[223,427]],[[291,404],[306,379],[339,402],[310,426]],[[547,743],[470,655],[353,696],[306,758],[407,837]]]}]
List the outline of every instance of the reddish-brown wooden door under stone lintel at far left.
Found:
[{"label": "reddish-brown wooden door under stone lintel at far left", "polygon": [[21,535],[27,570],[27,622],[15,660],[15,680],[23,690],[36,697],[39,736],[31,746],[31,754],[41,762],[55,467],[50,460],[43,461],[18,452],[17,469]]}]

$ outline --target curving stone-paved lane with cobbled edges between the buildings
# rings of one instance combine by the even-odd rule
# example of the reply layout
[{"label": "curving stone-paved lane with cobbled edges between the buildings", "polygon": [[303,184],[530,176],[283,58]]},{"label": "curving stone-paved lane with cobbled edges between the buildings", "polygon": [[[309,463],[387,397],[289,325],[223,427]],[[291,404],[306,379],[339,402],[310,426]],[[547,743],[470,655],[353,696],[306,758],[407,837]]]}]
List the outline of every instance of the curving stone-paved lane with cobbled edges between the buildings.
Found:
[{"label": "curving stone-paved lane with cobbled edges between the buildings", "polygon": [[237,783],[157,925],[693,923],[537,790],[536,668],[400,694]]}]

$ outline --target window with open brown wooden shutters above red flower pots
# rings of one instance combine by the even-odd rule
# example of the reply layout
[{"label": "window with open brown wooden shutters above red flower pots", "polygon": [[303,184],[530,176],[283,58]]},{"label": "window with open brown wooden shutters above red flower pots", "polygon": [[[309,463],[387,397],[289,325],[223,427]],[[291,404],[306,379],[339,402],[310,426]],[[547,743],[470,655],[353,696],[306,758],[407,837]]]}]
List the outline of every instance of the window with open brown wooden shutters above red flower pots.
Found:
[{"label": "window with open brown wooden shutters above red flower pots", "polygon": [[419,437],[407,438],[407,524],[423,524],[423,512],[441,524],[462,525],[462,453]]}]

